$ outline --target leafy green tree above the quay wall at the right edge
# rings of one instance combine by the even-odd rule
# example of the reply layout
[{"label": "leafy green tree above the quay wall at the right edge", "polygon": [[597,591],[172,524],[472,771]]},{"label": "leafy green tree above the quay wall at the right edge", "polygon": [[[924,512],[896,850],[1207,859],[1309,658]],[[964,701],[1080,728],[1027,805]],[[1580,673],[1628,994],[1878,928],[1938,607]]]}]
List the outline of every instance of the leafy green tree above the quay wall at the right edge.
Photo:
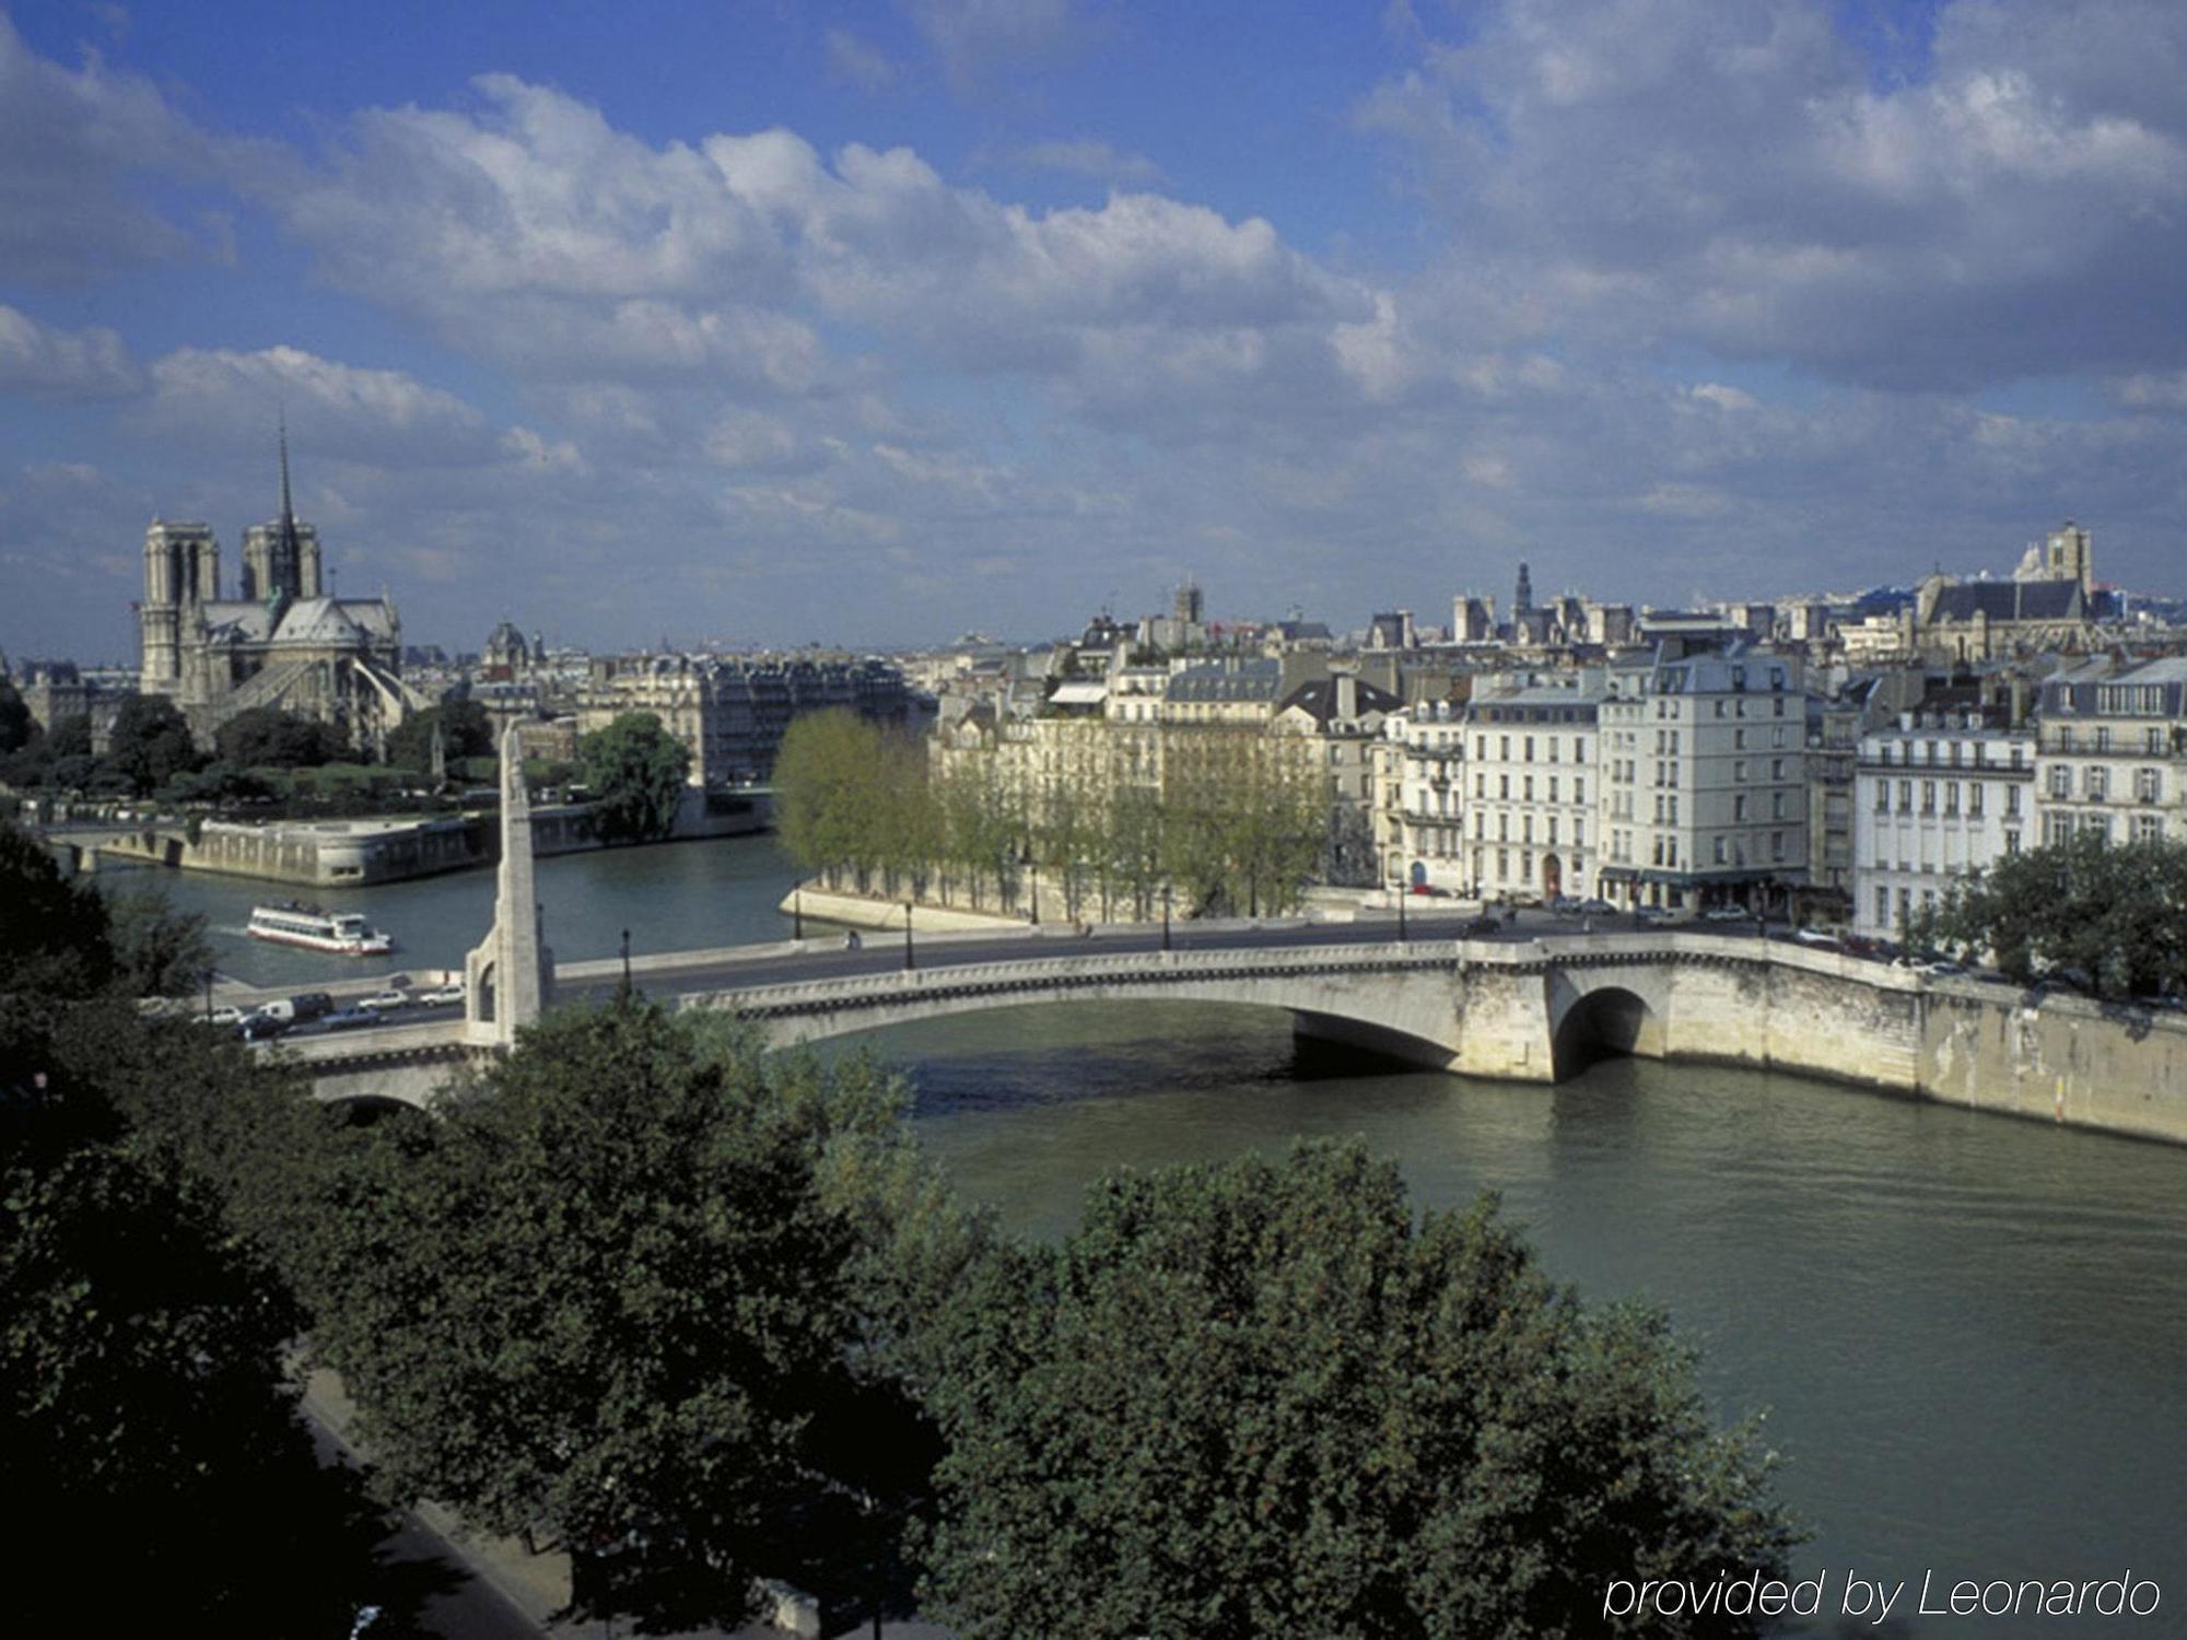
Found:
[{"label": "leafy green tree above the quay wall at the right edge", "polygon": [[2187,844],[2082,831],[2005,855],[1951,881],[1907,940],[1995,960],[2021,982],[2080,975],[2102,997],[2187,993]]}]

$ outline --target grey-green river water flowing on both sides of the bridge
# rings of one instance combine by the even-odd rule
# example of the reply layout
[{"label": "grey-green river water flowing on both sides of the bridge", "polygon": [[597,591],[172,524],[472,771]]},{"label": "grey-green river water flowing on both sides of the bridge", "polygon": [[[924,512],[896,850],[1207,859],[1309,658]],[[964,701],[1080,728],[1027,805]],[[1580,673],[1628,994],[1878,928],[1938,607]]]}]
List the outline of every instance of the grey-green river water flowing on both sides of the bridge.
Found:
[{"label": "grey-green river water flowing on both sides of the bridge", "polygon": [[[157,881],[208,914],[227,973],[363,971],[245,942],[258,886]],[[538,868],[562,958],[612,956],[623,927],[641,953],[783,938],[787,883],[765,837]],[[402,940],[391,969],[453,967],[492,879],[341,899]],[[1330,1065],[1242,1008],[1026,1008],[864,1041],[914,1076],[958,1183],[1039,1235],[1113,1168],[1295,1135],[1363,1135],[1428,1207],[1502,1192],[1557,1277],[1671,1312],[1719,1415],[1767,1413],[1780,1493],[1813,1533],[1796,1570],[1828,1574],[1831,1616],[1848,1574],[1905,1581],[1905,1614],[1925,1572],[1938,1598],[2132,1570],[2163,1598],[2137,1631],[2187,1633],[2187,1150],[1758,1071],[1614,1061],[1542,1089]],[[1953,1627],[1898,1614],[1811,1631]]]}]

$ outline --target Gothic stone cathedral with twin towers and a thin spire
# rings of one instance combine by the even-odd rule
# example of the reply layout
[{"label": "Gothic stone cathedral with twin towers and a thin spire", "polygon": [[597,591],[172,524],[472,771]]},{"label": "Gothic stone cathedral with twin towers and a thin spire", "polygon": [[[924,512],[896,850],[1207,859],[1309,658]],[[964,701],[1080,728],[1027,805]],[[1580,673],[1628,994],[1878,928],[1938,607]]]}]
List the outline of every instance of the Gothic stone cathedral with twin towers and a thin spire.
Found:
[{"label": "Gothic stone cathedral with twin towers and a thin spire", "polygon": [[236,713],[276,706],[343,730],[361,754],[426,702],[402,682],[402,617],[387,597],[321,590],[319,531],[289,501],[280,450],[280,518],[243,536],[241,597],[221,597],[221,542],[210,525],[155,518],[144,531],[144,654],[138,689],[166,695],[210,741]]}]

